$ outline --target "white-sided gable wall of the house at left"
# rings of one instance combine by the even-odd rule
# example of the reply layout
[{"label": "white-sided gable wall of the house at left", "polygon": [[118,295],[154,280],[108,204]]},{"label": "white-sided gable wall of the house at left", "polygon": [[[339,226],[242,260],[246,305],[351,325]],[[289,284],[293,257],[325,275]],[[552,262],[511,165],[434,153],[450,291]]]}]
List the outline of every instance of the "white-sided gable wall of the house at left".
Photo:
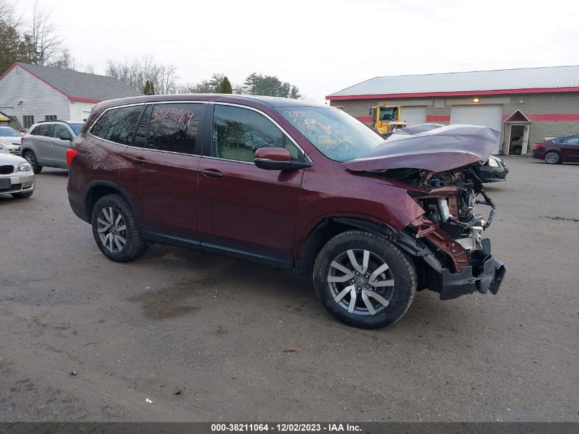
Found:
[{"label": "white-sided gable wall of the house at left", "polygon": [[23,125],[25,115],[34,116],[34,122],[47,115],[64,120],[71,115],[66,96],[18,65],[0,80],[0,111],[16,116]]}]

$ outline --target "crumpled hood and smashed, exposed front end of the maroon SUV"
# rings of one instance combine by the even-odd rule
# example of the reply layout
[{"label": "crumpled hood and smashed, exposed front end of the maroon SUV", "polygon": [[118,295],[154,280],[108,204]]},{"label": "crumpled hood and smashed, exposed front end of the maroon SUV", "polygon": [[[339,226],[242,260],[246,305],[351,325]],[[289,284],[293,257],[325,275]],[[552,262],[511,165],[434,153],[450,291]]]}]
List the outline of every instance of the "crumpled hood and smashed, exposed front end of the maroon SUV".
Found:
[{"label": "crumpled hood and smashed, exposed front end of the maroon SUV", "polygon": [[[495,294],[504,278],[504,264],[482,237],[495,204],[474,169],[488,160],[497,138],[491,128],[434,125],[426,132],[393,135],[381,150],[345,163],[349,170],[409,185],[408,195],[423,215],[410,221],[396,241],[428,265],[417,267],[419,289],[436,291],[442,300],[476,291]],[[486,216],[479,214],[481,206],[488,207]]]}]

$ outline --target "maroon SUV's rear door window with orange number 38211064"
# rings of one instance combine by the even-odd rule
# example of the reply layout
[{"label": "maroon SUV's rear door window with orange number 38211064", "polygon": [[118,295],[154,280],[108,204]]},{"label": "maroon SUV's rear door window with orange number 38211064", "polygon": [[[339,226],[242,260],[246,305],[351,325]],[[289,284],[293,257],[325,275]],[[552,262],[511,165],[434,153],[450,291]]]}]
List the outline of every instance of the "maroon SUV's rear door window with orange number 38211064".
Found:
[{"label": "maroon SUV's rear door window with orange number 38211064", "polygon": [[[204,104],[195,103],[155,104],[150,116],[143,116],[134,145],[195,154],[197,131],[205,108]],[[149,108],[145,114],[149,114]]]}]

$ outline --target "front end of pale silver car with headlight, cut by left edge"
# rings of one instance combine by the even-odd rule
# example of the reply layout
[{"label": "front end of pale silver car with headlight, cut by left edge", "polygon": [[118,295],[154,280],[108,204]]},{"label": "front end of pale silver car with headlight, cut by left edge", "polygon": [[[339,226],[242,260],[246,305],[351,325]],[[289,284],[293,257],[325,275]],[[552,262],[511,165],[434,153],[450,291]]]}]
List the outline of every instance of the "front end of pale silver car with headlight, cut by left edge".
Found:
[{"label": "front end of pale silver car with headlight, cut by left edge", "polygon": [[34,193],[34,181],[34,171],[29,162],[0,149],[0,196],[30,197]]}]

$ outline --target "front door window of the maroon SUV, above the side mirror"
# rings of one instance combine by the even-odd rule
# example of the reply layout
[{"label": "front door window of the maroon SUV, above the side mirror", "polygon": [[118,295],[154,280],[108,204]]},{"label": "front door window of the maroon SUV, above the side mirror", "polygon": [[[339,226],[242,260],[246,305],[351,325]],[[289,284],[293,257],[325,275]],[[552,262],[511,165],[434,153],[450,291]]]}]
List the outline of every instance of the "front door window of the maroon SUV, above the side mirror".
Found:
[{"label": "front door window of the maroon SUV, above the side mirror", "polygon": [[301,153],[267,117],[247,108],[216,105],[213,114],[212,154],[227,160],[254,162],[256,149],[284,147],[293,159]]}]

